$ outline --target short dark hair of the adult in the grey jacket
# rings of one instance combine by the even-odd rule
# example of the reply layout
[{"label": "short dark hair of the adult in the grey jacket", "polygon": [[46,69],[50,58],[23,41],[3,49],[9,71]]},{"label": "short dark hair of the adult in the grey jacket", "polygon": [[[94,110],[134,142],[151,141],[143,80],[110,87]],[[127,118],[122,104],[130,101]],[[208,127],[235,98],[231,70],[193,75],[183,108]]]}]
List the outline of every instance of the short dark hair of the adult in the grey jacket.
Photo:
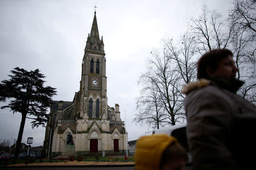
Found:
[{"label": "short dark hair of the adult in the grey jacket", "polygon": [[213,49],[205,53],[197,62],[197,79],[209,79],[207,67],[212,67],[213,71],[218,69],[218,63],[222,58],[229,55],[233,57],[233,53],[229,49]]}]

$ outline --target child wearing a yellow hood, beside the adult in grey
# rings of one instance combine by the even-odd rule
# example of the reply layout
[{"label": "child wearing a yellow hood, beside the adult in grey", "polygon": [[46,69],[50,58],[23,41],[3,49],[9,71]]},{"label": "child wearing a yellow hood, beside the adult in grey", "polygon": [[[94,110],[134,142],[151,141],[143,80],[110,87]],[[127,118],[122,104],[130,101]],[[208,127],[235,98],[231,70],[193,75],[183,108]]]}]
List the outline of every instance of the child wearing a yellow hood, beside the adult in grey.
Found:
[{"label": "child wearing a yellow hood, beside the adult in grey", "polygon": [[182,170],[188,156],[177,139],[167,134],[154,134],[138,139],[135,150],[137,170]]}]

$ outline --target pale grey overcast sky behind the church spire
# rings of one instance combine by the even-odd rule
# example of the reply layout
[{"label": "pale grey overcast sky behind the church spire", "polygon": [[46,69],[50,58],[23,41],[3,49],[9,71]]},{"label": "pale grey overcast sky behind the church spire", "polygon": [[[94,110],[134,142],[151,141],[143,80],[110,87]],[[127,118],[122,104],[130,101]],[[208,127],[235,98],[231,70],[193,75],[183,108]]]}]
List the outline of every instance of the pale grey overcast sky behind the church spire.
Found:
[{"label": "pale grey overcast sky behind the church spire", "polygon": [[[164,37],[174,40],[187,30],[190,15],[197,15],[203,5],[216,9],[224,17],[231,0],[177,1],[0,1],[0,80],[14,67],[39,69],[48,86],[57,88],[53,100],[72,101],[79,91],[81,62],[86,37],[92,27],[94,5],[103,36],[108,77],[108,105],[120,105],[129,141],[151,131],[148,126],[132,123],[137,81],[145,70],[144,62],[154,49],[161,48]],[[3,105],[3,103],[0,103]],[[20,113],[0,110],[0,139],[18,137]],[[26,121],[23,142],[34,137],[32,146],[43,145],[45,128],[32,130]]]}]

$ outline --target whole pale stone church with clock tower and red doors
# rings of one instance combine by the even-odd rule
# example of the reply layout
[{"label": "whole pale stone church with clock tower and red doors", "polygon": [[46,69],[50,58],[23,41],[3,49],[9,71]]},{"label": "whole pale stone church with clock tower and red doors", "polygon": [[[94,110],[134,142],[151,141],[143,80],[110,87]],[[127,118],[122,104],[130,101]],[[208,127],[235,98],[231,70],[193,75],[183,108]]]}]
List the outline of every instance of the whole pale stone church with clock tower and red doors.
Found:
[{"label": "whole pale stone church with clock tower and red doors", "polygon": [[80,89],[73,101],[53,101],[44,138],[44,154],[124,155],[125,123],[119,105],[109,107],[106,57],[99,36],[96,12],[82,58]]}]

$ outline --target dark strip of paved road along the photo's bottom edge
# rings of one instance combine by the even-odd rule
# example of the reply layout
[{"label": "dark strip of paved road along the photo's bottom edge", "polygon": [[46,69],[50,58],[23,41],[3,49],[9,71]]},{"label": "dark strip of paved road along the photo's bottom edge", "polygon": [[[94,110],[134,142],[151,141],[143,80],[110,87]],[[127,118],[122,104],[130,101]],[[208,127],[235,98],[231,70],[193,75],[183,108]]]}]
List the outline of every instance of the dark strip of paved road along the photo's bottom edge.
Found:
[{"label": "dark strip of paved road along the photo's bottom edge", "polygon": [[22,168],[15,168],[15,167],[1,167],[1,170],[134,170],[134,167],[22,167]]}]

